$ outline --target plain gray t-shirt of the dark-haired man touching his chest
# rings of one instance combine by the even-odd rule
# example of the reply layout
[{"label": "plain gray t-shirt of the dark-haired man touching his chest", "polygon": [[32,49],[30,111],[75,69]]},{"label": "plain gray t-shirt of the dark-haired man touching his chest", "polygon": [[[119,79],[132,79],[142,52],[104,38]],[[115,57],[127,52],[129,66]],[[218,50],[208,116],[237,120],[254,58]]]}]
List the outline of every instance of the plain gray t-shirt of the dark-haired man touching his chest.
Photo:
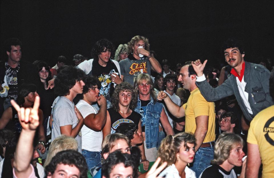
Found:
[{"label": "plain gray t-shirt of the dark-haired man touching his chest", "polygon": [[[74,111],[74,104],[64,96],[58,96],[52,105],[52,128],[51,141],[61,135],[60,127],[72,125],[72,129],[77,125],[78,118]],[[81,131],[75,137],[78,142],[78,152],[82,153],[82,135]]]}]

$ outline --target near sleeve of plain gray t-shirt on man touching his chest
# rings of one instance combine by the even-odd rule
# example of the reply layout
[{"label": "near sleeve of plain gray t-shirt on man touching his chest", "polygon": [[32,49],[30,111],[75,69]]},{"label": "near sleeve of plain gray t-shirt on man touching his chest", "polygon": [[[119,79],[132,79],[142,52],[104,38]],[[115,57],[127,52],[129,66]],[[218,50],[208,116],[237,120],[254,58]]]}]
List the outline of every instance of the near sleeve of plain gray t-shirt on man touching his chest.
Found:
[{"label": "near sleeve of plain gray t-shirt on man touching his chest", "polygon": [[70,107],[60,107],[58,111],[56,111],[55,117],[59,121],[59,127],[65,125],[73,125],[73,117],[75,111],[72,110]]}]

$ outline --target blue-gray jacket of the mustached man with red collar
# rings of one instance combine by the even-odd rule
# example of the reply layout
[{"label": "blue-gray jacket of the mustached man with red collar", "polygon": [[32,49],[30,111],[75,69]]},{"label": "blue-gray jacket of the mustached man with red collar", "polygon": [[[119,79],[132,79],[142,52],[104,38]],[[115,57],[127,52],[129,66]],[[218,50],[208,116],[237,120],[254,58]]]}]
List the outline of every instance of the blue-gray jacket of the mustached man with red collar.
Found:
[{"label": "blue-gray jacket of the mustached man with red collar", "polygon": [[246,109],[234,75],[230,75],[227,80],[217,88],[212,88],[206,80],[196,82],[196,85],[208,102],[213,102],[234,94],[245,118],[252,121],[257,113],[273,105],[273,100],[269,93],[269,77],[270,72],[265,67],[245,61],[243,80],[246,82],[245,92],[248,93],[248,102],[253,115],[249,114]]}]

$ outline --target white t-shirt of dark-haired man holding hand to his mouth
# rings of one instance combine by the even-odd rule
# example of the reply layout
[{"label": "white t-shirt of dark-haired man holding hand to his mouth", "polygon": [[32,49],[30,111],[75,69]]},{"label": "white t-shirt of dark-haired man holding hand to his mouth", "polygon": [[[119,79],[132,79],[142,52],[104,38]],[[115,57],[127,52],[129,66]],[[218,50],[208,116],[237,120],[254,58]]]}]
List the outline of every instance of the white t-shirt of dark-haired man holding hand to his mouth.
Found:
[{"label": "white t-shirt of dark-haired man holding hand to his mouth", "polygon": [[[79,109],[83,118],[85,119],[90,114],[97,114],[97,110],[89,105],[84,100],[80,100],[76,107]],[[85,125],[81,129],[82,133],[82,149],[91,152],[100,152],[102,150],[103,132],[96,132]]]}]

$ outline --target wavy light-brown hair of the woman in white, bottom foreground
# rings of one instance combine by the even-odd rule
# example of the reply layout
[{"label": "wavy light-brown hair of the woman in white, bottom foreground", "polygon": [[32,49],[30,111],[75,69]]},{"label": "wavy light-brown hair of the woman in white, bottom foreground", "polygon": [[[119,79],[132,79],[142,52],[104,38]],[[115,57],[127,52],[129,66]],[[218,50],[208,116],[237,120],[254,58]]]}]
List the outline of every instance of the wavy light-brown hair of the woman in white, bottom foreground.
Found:
[{"label": "wavy light-brown hair of the woman in white, bottom foreground", "polygon": [[167,162],[167,166],[174,164],[177,161],[176,154],[180,151],[182,144],[184,144],[185,148],[189,148],[187,143],[194,144],[195,148],[196,138],[194,134],[181,132],[174,136],[166,136],[166,138],[162,140],[158,150],[158,157],[161,158],[161,163]]}]

